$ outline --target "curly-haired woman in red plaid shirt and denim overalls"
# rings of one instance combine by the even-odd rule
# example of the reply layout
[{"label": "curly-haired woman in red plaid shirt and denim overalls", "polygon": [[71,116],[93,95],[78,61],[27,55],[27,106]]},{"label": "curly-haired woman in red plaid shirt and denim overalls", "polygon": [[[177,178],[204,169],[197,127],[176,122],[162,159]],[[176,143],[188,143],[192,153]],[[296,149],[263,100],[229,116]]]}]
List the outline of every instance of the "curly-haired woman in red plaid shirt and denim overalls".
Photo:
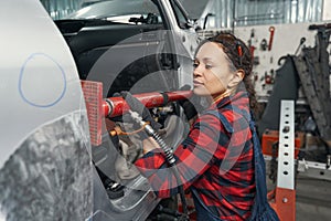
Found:
[{"label": "curly-haired woman in red plaid shirt and denim overalls", "polygon": [[[278,220],[267,202],[265,162],[250,114],[257,103],[249,50],[221,33],[200,44],[193,65],[193,93],[210,105],[173,152],[181,183],[152,138],[143,140],[137,168],[161,198],[177,194],[179,186],[190,189],[200,221]],[[122,96],[132,110],[142,105],[130,93]],[[143,119],[153,120],[150,115]]]}]

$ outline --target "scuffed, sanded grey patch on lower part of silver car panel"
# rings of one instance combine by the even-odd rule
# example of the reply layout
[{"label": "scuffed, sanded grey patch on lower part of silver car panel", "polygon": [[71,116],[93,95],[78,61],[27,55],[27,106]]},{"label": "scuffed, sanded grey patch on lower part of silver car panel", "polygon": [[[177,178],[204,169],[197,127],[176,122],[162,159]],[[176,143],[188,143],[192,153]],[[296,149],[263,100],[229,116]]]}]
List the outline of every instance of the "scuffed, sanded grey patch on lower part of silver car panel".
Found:
[{"label": "scuffed, sanded grey patch on lower part of silver car panel", "polygon": [[81,113],[66,115],[38,128],[10,156],[0,170],[7,221],[85,220],[93,213],[86,126]]}]

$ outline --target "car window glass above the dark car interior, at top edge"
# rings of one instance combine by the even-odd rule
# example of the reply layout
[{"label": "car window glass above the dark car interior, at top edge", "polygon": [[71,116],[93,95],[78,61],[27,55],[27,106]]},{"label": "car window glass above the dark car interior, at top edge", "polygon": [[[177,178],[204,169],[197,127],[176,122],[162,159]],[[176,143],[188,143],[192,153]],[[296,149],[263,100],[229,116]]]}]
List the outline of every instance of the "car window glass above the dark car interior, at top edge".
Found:
[{"label": "car window glass above the dark car interior, at top edge", "polygon": [[109,0],[93,3],[64,19],[104,19],[121,23],[160,23],[161,17],[151,0]]}]

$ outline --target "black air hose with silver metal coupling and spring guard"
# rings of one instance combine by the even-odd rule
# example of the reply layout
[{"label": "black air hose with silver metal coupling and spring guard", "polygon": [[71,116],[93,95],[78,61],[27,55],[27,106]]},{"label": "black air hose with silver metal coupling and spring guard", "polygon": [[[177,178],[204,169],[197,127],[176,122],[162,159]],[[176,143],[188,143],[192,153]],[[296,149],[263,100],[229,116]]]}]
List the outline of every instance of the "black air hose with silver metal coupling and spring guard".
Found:
[{"label": "black air hose with silver metal coupling and spring guard", "polygon": [[180,185],[181,179],[180,179],[178,167],[175,165],[175,158],[173,156],[172,149],[164,143],[164,140],[160,137],[160,135],[149,124],[147,124],[146,122],[142,120],[142,118],[139,116],[139,114],[137,112],[129,110],[129,114],[137,124],[139,124],[141,127],[145,128],[145,131],[149,136],[151,136],[158,143],[160,148],[164,151],[166,159],[167,159],[170,168],[172,169],[172,172],[173,172],[177,183],[178,183],[179,193],[180,193],[180,198],[181,198],[181,202],[182,202],[182,207],[183,207],[183,213],[188,218],[188,203],[186,203],[186,199],[185,199],[184,188],[182,185]]}]

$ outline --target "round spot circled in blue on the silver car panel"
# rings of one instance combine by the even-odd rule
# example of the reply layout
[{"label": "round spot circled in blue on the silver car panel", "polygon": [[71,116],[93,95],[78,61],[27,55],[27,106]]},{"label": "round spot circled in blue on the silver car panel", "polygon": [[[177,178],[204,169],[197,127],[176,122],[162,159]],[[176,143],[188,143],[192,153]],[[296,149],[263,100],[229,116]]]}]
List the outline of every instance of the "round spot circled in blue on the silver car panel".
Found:
[{"label": "round spot circled in blue on the silver car panel", "polygon": [[18,86],[20,96],[28,104],[51,107],[66,92],[65,72],[52,56],[33,53],[21,67]]}]

